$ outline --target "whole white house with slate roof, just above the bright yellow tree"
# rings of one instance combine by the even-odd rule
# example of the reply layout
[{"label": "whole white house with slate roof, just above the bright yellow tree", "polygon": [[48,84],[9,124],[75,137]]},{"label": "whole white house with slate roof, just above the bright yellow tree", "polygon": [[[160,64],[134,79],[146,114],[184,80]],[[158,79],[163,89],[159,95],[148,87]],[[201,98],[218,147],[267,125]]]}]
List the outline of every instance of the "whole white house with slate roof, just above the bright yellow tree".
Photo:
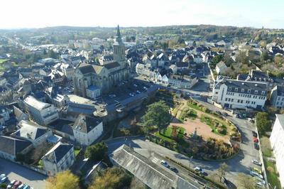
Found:
[{"label": "whole white house with slate roof, just above the bright yellow tree", "polygon": [[58,142],[41,159],[43,160],[43,168],[48,175],[55,175],[60,171],[67,170],[74,163],[74,146]]}]

